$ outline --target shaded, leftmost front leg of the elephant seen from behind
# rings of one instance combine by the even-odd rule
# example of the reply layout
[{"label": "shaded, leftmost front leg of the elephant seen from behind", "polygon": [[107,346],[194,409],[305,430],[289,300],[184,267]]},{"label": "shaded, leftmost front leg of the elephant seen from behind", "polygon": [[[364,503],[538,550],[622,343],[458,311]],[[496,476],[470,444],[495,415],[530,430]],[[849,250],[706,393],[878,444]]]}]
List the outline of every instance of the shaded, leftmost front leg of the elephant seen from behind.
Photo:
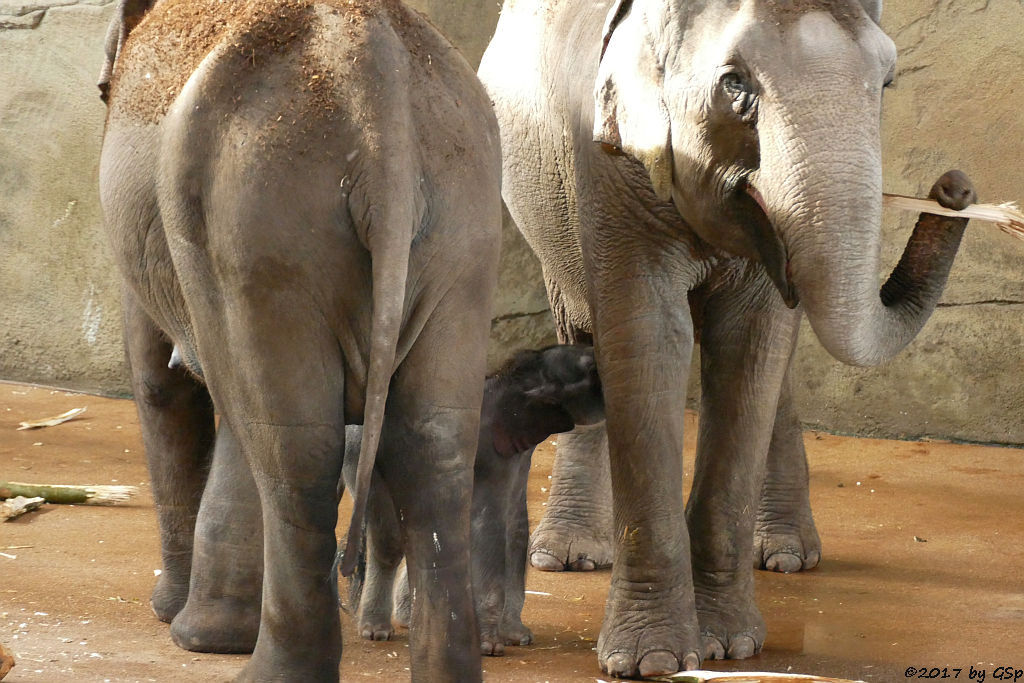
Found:
[{"label": "shaded, leftmost front leg of the elephant seen from behind", "polygon": [[213,404],[183,368],[169,369],[172,344],[124,292],[125,348],[160,525],[163,570],[153,611],[170,622],[188,596],[193,537],[214,440]]}]

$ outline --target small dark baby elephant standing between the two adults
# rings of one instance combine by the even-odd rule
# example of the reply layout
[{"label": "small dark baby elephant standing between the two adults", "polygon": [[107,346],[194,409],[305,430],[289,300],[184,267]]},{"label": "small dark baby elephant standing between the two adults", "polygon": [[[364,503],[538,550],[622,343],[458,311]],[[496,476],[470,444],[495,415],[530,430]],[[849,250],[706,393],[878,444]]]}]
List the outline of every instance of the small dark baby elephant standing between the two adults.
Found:
[{"label": "small dark baby elephant standing between the two adults", "polygon": [[[486,379],[473,470],[471,542],[473,595],[484,654],[501,655],[506,644],[532,641],[521,614],[529,536],[526,477],[534,449],[551,434],[603,419],[592,347],[556,345],[520,351]],[[346,443],[357,445],[360,428],[347,429],[353,432],[346,435]],[[354,446],[345,453],[346,485],[354,478],[355,456]],[[394,633],[392,611],[395,622],[408,626],[412,607],[404,571],[394,588],[403,555],[397,515],[403,513],[376,473],[370,490],[367,545],[361,571],[353,577],[350,603],[358,605],[362,637],[387,640]]]}]

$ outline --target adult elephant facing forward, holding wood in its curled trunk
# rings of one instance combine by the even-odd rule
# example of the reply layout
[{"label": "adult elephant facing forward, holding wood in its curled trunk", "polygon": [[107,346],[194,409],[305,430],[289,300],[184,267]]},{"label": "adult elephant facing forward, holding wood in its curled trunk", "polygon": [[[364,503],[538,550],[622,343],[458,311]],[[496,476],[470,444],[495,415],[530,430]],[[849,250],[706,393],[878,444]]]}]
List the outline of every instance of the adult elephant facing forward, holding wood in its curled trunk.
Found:
[{"label": "adult elephant facing forward, holding wood in its curled trunk", "polygon": [[[798,530],[809,515],[803,453],[782,447],[798,440],[782,391],[792,307],[802,302],[834,356],[874,365],[914,337],[945,285],[967,221],[923,214],[879,290],[879,127],[896,59],[880,12],[868,0],[503,8],[479,71],[502,131],[503,197],[541,258],[560,338],[593,336],[604,387],[608,674],[760,650],[751,539],[766,470],[791,509],[769,508]],[[958,172],[932,196],[955,208],[975,198]],[[684,508],[694,318],[701,422]],[[578,454],[605,438],[566,436]],[[599,468],[556,467],[586,526],[586,506],[603,503],[589,500]],[[574,552],[552,550],[559,562]]]}]

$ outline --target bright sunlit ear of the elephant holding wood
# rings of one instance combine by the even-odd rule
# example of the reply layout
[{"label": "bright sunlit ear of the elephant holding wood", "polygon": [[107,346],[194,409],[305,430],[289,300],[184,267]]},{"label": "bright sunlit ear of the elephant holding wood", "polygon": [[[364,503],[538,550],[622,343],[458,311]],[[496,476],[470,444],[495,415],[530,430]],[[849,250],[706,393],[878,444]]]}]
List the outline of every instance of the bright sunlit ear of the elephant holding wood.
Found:
[{"label": "bright sunlit ear of the elephant holding wood", "polygon": [[672,199],[672,126],[657,62],[632,0],[608,11],[594,87],[594,140],[634,157],[647,169],[654,193]]}]

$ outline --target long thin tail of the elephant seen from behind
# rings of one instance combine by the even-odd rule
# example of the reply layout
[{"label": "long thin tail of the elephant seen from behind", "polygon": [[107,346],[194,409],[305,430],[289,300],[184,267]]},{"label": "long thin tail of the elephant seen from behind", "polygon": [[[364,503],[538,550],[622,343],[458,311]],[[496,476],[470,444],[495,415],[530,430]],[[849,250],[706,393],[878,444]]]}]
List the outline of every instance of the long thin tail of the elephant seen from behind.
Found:
[{"label": "long thin tail of the elephant seen from behind", "polygon": [[[393,166],[390,166],[394,169]],[[385,205],[370,205],[359,211],[353,189],[350,204],[353,216],[361,223],[357,227],[360,240],[370,251],[372,269],[373,315],[370,328],[370,361],[367,369],[367,394],[362,413],[362,439],[351,486],[352,517],[348,525],[346,548],[360,548],[367,511],[367,497],[373,477],[377,447],[384,424],[384,408],[388,387],[397,357],[398,338],[404,318],[406,288],[409,280],[409,258],[413,234],[420,224],[415,185],[409,172],[389,173],[390,195]],[[378,179],[379,181],[380,179]],[[358,553],[346,552],[341,562],[341,574],[349,577],[355,570]]]}]

